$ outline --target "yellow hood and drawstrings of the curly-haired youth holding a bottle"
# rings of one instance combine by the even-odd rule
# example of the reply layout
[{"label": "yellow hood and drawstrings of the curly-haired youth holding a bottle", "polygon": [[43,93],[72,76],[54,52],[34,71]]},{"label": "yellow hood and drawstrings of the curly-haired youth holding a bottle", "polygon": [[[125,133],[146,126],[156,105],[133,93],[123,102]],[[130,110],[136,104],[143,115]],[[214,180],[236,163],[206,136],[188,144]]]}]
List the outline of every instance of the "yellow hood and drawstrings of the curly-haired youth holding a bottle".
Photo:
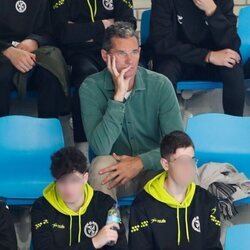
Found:
[{"label": "yellow hood and drawstrings of the curly-haired youth holding a bottle", "polygon": [[72,244],[72,216],[78,216],[79,217],[79,232],[78,232],[78,243],[81,241],[81,215],[83,215],[86,211],[87,208],[93,198],[94,195],[94,190],[93,188],[89,185],[86,184],[84,185],[83,188],[84,192],[84,204],[82,207],[79,209],[78,212],[73,211],[63,201],[61,196],[56,190],[56,184],[55,182],[50,183],[44,190],[43,190],[43,196],[44,198],[53,206],[58,212],[68,215],[70,217],[70,242],[69,246]]}]

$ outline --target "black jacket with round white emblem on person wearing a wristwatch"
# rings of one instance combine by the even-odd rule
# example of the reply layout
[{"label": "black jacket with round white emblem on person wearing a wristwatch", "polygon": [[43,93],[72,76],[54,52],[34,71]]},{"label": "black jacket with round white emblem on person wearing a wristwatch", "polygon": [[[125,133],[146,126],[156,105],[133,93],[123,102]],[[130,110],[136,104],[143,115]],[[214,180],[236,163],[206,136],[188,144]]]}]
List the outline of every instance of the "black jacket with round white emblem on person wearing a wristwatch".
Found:
[{"label": "black jacket with round white emblem on person wearing a wristwatch", "polygon": [[[52,45],[52,27],[48,0],[0,1],[0,52],[13,41],[33,39],[39,46]],[[21,11],[21,12],[20,12]]]}]

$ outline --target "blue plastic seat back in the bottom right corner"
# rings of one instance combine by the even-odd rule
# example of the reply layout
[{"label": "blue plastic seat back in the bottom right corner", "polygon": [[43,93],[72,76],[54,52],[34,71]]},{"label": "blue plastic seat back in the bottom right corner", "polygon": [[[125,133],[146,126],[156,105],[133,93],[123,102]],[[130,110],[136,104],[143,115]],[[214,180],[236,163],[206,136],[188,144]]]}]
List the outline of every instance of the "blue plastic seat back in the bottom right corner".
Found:
[{"label": "blue plastic seat back in the bottom right corner", "polygon": [[225,250],[250,249],[250,224],[228,227],[226,231]]}]

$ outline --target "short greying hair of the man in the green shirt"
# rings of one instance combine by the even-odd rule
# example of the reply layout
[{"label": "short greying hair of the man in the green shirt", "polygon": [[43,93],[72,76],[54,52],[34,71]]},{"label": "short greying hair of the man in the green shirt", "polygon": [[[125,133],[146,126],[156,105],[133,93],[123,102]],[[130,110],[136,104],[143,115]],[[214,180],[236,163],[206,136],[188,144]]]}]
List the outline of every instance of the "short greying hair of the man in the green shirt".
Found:
[{"label": "short greying hair of the man in the green shirt", "polygon": [[110,51],[112,49],[112,38],[114,37],[136,37],[137,41],[139,42],[139,38],[134,26],[129,22],[115,22],[113,25],[109,26],[105,31],[102,48],[106,51]]}]

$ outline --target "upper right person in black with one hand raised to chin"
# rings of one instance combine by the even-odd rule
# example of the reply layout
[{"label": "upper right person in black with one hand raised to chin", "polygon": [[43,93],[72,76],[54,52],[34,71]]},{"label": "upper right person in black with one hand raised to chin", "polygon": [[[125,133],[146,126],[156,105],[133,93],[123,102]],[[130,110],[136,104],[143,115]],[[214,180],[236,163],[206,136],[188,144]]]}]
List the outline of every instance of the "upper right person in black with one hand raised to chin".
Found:
[{"label": "upper right person in black with one hand raised to chin", "polygon": [[244,74],[233,0],[152,0],[154,70],[180,80],[221,80],[226,114],[242,116]]}]

